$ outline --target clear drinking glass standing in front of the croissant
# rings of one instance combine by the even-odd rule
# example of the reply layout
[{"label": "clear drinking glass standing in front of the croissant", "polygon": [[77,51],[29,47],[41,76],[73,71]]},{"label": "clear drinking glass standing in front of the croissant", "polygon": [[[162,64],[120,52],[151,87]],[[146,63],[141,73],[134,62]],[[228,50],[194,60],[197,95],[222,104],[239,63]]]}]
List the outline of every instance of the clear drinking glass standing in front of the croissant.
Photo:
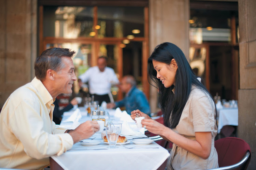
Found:
[{"label": "clear drinking glass standing in front of the croissant", "polygon": [[118,148],[116,142],[118,139],[119,127],[106,127],[106,137],[109,142],[108,148]]}]

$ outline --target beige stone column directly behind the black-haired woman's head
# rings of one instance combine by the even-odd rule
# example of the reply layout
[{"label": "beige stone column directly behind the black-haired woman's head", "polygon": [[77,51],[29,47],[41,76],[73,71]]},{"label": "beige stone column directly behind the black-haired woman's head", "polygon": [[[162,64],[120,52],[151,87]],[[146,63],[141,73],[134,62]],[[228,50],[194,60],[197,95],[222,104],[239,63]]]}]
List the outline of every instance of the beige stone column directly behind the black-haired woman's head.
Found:
[{"label": "beige stone column directly behind the black-haired woman's head", "polygon": [[[189,54],[189,0],[149,0],[149,50],[150,54],[155,46],[170,42]],[[159,110],[157,107],[158,91],[150,86],[151,112]]]}]

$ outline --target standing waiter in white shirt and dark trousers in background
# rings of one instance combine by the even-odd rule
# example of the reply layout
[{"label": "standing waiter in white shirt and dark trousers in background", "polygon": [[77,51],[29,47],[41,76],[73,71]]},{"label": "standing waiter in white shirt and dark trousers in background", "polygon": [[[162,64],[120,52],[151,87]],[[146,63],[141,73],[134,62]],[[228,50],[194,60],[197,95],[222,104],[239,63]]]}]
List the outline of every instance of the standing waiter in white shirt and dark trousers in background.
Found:
[{"label": "standing waiter in white shirt and dark trousers in background", "polygon": [[94,95],[94,101],[99,101],[99,105],[103,101],[106,103],[114,102],[111,94],[111,84],[118,84],[113,68],[107,67],[107,58],[99,57],[97,66],[90,67],[84,74],[79,76],[79,86],[88,82],[89,93]]}]

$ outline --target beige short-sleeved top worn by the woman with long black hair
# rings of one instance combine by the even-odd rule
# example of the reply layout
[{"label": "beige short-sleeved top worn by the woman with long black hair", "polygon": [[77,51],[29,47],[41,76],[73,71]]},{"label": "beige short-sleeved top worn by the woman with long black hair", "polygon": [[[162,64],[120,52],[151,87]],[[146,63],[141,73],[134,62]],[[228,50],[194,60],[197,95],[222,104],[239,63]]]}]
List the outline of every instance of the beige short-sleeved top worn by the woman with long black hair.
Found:
[{"label": "beige short-sleeved top worn by the woman with long black hair", "polygon": [[174,132],[192,140],[196,140],[195,132],[212,133],[212,149],[208,159],[190,153],[173,144],[167,169],[212,169],[218,167],[218,155],[214,148],[214,137],[217,135],[214,102],[208,93],[192,87],[188,101],[181,114],[179,124]]}]

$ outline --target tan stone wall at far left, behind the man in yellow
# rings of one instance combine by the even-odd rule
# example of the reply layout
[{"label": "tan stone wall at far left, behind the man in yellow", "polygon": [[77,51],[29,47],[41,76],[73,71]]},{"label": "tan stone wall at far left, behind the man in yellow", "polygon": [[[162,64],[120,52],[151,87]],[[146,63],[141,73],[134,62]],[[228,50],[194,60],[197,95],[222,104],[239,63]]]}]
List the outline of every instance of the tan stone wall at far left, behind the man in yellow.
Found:
[{"label": "tan stone wall at far left, behind the man in yellow", "polygon": [[0,1],[0,108],[9,95],[34,77],[37,0]]}]

